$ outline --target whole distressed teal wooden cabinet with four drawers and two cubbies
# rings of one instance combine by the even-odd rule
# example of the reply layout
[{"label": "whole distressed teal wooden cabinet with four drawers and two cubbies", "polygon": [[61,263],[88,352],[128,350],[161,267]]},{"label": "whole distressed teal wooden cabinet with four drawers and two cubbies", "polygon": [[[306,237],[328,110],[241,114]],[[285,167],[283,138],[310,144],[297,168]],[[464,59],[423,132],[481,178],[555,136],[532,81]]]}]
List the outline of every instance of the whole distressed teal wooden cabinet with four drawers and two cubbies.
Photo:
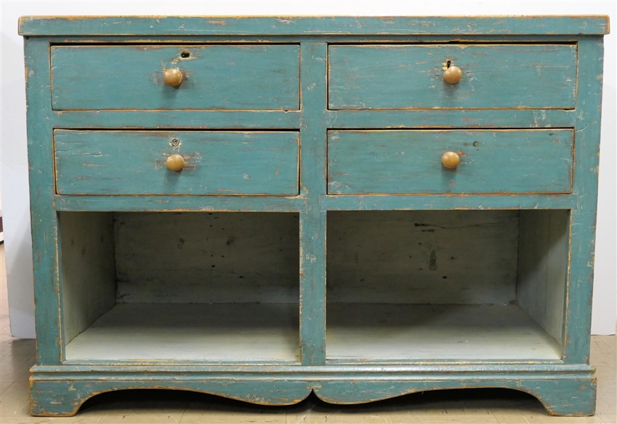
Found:
[{"label": "whole distressed teal wooden cabinet with four drawers and two cubbies", "polygon": [[594,413],[604,16],[24,17],[35,416],[95,394]]}]

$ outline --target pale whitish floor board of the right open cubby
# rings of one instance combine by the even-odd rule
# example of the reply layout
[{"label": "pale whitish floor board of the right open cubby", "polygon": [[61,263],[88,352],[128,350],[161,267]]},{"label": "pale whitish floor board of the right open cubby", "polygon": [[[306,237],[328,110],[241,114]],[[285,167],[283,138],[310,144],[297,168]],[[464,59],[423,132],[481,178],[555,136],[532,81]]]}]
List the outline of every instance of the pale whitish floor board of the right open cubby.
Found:
[{"label": "pale whitish floor board of the right open cubby", "polygon": [[559,360],[517,305],[329,303],[327,360]]}]

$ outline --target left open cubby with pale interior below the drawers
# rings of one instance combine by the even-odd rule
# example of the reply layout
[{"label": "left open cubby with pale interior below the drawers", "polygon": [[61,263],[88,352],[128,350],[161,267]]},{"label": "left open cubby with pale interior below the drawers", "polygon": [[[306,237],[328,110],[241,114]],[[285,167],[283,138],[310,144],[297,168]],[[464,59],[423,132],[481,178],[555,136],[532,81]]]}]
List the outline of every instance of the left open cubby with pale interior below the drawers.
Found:
[{"label": "left open cubby with pale interior below the drawers", "polygon": [[59,213],[66,360],[296,363],[298,213]]}]

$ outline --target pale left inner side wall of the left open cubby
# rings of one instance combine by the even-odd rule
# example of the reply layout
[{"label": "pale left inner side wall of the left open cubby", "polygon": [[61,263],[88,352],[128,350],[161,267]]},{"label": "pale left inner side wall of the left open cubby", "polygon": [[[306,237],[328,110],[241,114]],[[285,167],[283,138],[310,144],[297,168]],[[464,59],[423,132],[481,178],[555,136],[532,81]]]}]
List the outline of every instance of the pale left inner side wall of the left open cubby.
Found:
[{"label": "pale left inner side wall of the left open cubby", "polygon": [[110,212],[59,213],[64,343],[116,303],[114,223]]}]

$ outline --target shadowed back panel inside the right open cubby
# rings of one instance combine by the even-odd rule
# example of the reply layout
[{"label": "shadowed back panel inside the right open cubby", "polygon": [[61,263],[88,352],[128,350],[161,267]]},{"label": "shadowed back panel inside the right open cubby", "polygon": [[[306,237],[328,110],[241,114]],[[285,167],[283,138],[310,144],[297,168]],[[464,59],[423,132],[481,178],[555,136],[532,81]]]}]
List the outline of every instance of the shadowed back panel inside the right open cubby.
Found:
[{"label": "shadowed back panel inside the right open cubby", "polygon": [[519,211],[329,212],[328,302],[513,303],[518,236]]}]

